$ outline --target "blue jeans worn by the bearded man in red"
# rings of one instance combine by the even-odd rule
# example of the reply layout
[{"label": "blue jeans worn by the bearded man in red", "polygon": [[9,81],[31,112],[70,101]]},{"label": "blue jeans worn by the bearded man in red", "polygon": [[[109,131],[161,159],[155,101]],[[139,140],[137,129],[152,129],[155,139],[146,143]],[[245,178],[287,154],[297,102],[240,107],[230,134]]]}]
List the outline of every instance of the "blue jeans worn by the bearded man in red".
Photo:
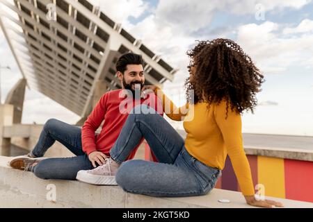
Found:
[{"label": "blue jeans worn by the bearded man in red", "polygon": [[42,160],[33,168],[35,176],[42,179],[76,180],[78,171],[94,168],[82,150],[81,128],[57,119],[49,119],[45,123],[31,153],[35,157],[42,157],[56,140],[77,156]]}]

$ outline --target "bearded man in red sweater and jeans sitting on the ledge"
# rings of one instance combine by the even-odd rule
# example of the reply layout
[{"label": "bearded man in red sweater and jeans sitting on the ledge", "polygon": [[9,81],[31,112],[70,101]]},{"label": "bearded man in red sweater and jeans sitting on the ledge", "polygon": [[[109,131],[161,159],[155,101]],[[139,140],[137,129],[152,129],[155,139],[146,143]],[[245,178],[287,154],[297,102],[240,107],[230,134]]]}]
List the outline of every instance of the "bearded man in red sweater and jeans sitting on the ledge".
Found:
[{"label": "bearded man in red sweater and jeans sitting on the ledge", "polygon": [[[78,171],[93,169],[109,160],[109,151],[129,114],[125,109],[132,110],[136,104],[151,105],[155,110],[160,110],[159,108],[162,107],[161,101],[153,93],[148,94],[144,99],[141,96],[135,98],[135,95],[141,94],[140,90],[145,83],[143,59],[140,55],[125,53],[120,56],[115,67],[122,89],[106,92],[99,99],[82,128],[57,119],[49,119],[33,151],[24,157],[11,160],[10,167],[32,171],[35,176],[42,179],[75,180]],[[139,92],[136,92],[136,87],[139,88]],[[125,89],[128,89],[126,93]],[[159,114],[163,115],[163,111],[159,111]],[[101,133],[95,135],[103,120]],[[56,140],[76,156],[42,159]],[[129,155],[128,160],[134,157],[138,146]]]}]

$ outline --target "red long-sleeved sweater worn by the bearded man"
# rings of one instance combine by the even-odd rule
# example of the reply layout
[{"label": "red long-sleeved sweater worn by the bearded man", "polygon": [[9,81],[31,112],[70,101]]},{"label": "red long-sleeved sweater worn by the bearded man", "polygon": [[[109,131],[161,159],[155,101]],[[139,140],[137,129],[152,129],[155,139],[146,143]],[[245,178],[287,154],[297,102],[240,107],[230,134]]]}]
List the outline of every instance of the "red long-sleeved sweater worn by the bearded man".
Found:
[{"label": "red long-sleeved sweater worn by the bearded man", "polygon": [[[93,151],[100,151],[105,155],[110,155],[109,151],[113,147],[120,131],[128,117],[129,111],[135,105],[146,104],[158,111],[163,116],[162,103],[154,94],[148,94],[146,99],[135,101],[132,97],[122,96],[122,89],[106,92],[98,101],[97,105],[90,113],[81,128],[81,142],[83,151],[89,155]],[[126,108],[126,110],[125,110]],[[122,110],[122,112],[120,112]],[[127,112],[128,111],[128,112]],[[104,120],[101,133],[95,131]],[[143,139],[141,140],[143,142]],[[141,144],[138,144],[138,146]],[[134,157],[138,146],[134,148],[127,160]]]}]

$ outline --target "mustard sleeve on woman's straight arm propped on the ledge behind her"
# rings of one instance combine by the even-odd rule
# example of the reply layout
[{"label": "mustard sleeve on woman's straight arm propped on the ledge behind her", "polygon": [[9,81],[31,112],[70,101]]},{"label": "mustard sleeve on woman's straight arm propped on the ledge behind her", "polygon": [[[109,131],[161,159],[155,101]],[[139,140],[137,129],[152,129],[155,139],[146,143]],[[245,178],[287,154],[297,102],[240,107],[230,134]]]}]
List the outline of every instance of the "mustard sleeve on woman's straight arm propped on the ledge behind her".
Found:
[{"label": "mustard sleeve on woman's straight arm propped on the ledge behind her", "polygon": [[234,173],[239,181],[244,196],[255,195],[248,158],[243,149],[241,133],[241,115],[228,108],[226,117],[226,101],[215,106],[214,115],[218,128],[223,135],[227,153],[230,156]]}]

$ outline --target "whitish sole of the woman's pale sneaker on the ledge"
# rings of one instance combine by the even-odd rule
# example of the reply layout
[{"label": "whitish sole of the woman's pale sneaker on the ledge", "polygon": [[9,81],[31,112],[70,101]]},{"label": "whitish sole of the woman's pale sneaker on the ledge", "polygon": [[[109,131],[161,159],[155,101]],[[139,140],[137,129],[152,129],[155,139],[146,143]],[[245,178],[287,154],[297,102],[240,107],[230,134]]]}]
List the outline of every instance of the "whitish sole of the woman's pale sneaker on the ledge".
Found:
[{"label": "whitish sole of the woman's pale sneaker on the ledge", "polygon": [[79,171],[76,179],[81,182],[90,183],[92,185],[115,185],[118,184],[115,181],[115,176],[99,176],[86,173],[86,171]]}]

